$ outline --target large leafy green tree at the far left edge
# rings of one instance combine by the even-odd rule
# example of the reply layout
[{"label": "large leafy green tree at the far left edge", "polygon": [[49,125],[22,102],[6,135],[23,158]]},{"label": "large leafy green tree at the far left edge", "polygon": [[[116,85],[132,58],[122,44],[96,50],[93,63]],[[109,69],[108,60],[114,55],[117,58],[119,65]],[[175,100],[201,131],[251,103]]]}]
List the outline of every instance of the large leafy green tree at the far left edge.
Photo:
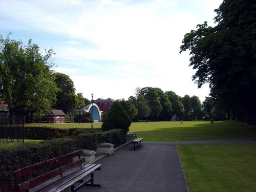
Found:
[{"label": "large leafy green tree at the far left edge", "polygon": [[22,41],[0,35],[0,97],[13,116],[19,111],[46,112],[55,101],[52,78],[53,50],[44,55],[32,40]]}]

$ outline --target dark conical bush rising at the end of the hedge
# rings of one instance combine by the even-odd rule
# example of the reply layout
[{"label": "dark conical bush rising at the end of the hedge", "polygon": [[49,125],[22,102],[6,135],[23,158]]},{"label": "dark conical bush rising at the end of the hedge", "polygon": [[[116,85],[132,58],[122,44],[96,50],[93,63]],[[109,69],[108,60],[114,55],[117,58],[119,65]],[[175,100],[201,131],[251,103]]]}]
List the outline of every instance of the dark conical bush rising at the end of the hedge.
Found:
[{"label": "dark conical bush rising at the end of the hedge", "polygon": [[127,115],[120,103],[116,101],[112,104],[108,114],[106,114],[101,127],[103,131],[123,129],[127,132],[131,122],[129,115]]}]

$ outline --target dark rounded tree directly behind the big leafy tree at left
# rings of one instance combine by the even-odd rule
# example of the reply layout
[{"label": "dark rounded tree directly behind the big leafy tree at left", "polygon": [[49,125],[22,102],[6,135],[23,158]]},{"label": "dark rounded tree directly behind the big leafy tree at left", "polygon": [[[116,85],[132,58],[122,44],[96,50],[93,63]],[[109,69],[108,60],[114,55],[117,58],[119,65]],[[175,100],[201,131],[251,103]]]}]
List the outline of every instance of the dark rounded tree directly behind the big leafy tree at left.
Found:
[{"label": "dark rounded tree directly behind the big leafy tree at left", "polygon": [[54,76],[58,88],[55,108],[63,112],[77,108],[78,98],[75,94],[74,82],[68,75],[63,73],[55,73]]}]

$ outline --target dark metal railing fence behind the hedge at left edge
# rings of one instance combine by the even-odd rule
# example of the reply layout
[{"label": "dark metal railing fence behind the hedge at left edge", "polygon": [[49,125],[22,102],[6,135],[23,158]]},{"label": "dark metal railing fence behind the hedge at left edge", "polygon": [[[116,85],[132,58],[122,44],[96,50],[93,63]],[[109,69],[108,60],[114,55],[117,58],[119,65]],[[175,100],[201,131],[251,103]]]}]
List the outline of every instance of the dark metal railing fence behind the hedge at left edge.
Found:
[{"label": "dark metal railing fence behind the hedge at left edge", "polygon": [[24,142],[24,122],[23,116],[0,115],[0,144]]}]

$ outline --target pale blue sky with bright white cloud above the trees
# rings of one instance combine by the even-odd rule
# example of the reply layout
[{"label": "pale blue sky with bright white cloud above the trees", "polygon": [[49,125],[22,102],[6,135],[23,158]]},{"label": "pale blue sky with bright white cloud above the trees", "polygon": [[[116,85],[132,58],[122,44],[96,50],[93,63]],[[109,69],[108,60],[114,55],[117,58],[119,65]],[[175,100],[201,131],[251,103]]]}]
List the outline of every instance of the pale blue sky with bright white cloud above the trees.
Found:
[{"label": "pale blue sky with bright white cloud above the trees", "polygon": [[136,88],[209,94],[191,77],[182,39],[214,17],[222,0],[0,0],[0,34],[54,49],[56,72],[91,100],[128,99]]}]

